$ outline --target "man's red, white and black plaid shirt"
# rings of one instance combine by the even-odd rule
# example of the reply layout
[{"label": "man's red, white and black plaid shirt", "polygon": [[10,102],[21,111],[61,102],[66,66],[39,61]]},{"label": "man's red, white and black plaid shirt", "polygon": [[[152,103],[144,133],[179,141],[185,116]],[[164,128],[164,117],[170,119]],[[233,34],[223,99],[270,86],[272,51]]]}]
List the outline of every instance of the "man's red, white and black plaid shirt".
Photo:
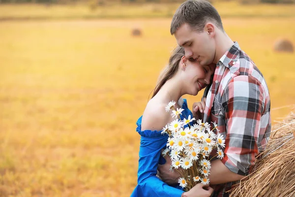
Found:
[{"label": "man's red, white and black plaid shirt", "polygon": [[[225,138],[222,163],[237,174],[248,175],[270,135],[270,98],[262,73],[237,42],[217,63],[204,97],[204,121],[216,122]],[[236,183],[217,185],[212,196],[229,196],[226,192]]]}]

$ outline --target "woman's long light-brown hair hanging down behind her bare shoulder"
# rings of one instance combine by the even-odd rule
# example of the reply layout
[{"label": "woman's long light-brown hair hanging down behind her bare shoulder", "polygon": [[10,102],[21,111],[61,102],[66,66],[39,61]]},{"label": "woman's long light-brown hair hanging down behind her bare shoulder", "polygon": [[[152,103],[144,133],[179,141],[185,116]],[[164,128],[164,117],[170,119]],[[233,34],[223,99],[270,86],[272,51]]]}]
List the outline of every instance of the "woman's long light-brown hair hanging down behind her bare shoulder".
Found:
[{"label": "woman's long light-brown hair hanging down behind her bare shoulder", "polygon": [[175,75],[182,56],[184,56],[184,49],[183,47],[177,46],[170,56],[168,66],[166,66],[164,70],[161,72],[151,98],[153,98],[159,92],[159,90],[166,83],[166,81],[168,81]]}]

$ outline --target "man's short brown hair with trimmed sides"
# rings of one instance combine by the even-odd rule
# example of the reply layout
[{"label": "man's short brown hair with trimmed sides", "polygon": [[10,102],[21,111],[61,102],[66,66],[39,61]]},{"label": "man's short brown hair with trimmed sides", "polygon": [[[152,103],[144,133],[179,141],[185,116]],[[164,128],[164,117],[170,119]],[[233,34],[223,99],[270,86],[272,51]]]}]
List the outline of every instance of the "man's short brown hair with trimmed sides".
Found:
[{"label": "man's short brown hair with trimmed sides", "polygon": [[192,30],[203,32],[207,22],[224,31],[220,15],[213,5],[207,0],[187,0],[177,8],[171,22],[170,33],[173,35],[184,23],[187,23]]}]

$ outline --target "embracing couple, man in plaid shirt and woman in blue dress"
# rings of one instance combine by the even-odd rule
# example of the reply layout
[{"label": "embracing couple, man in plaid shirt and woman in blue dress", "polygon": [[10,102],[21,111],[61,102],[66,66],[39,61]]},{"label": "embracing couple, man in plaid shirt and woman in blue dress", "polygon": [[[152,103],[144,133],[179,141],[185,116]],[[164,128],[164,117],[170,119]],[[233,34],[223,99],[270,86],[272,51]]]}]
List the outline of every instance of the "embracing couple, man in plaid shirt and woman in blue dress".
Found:
[{"label": "embracing couple, man in plaid shirt and woman in blue dress", "polygon": [[[232,186],[251,172],[256,156],[266,147],[271,129],[266,81],[227,35],[220,15],[208,1],[183,2],[170,31],[178,46],[137,121],[141,135],[138,185],[131,197],[227,197]],[[202,101],[190,110],[182,97],[196,96],[204,88]],[[170,171],[170,157],[161,157],[168,140],[161,131],[173,121],[165,106],[172,100],[177,101],[175,108],[183,109],[181,120],[191,116],[215,123],[225,138],[224,157],[211,161],[210,186],[199,183],[184,192],[177,183],[180,174]]]}]

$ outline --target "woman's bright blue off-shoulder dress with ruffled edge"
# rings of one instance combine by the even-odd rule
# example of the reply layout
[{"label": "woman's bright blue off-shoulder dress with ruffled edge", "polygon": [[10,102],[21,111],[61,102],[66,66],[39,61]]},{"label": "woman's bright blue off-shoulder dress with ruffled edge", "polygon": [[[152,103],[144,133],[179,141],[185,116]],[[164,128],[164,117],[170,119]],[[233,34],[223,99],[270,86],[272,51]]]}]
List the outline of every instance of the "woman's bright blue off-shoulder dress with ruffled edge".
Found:
[{"label": "woman's bright blue off-shoulder dress with ruffled edge", "polygon": [[[183,99],[182,114],[180,119],[193,117],[192,112],[187,107],[186,99]],[[138,180],[131,197],[181,197],[183,190],[177,184],[174,187],[161,181],[157,174],[158,164],[165,164],[165,159],[161,155],[161,149],[166,148],[168,134],[162,135],[161,131],[141,131],[142,116],[137,121],[136,131],[141,135]]]}]

